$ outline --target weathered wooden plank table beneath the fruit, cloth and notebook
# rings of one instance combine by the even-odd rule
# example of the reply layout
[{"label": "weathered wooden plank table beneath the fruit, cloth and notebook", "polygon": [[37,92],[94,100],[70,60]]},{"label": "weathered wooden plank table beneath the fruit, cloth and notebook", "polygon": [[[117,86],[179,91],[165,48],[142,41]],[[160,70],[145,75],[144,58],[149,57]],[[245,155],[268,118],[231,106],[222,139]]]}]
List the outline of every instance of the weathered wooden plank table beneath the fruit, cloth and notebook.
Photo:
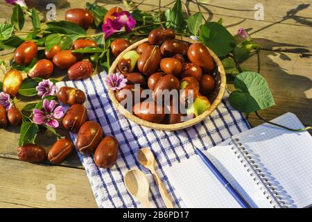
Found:
[{"label": "weathered wooden plank table beneath the fruit, cloth and notebook", "polygon": [[[12,13],[12,6],[3,2],[1,0],[1,23],[9,21]],[[62,19],[68,8],[83,8],[85,2],[69,0],[68,4],[64,4],[65,8],[56,11],[57,19]],[[105,6],[108,9],[122,5],[121,1],[98,1],[105,5],[101,2],[109,2]],[[162,6],[167,9],[173,6],[173,2],[162,1]],[[185,4],[190,12],[198,11],[193,2],[187,1]],[[256,3],[263,3],[263,21],[254,20]],[[155,0],[146,0],[139,8],[157,10],[157,3]],[[208,20],[218,21],[222,17],[223,24],[233,34],[241,27],[248,28],[255,42],[261,45],[261,74],[268,80],[276,102],[274,107],[260,112],[266,119],[293,112],[302,123],[312,125],[311,9],[311,5],[303,0],[236,0],[231,3],[227,0],[211,0],[201,4],[201,10]],[[0,54],[1,60],[10,60],[12,57],[12,54]],[[257,56],[244,62],[243,67],[257,70]],[[0,80],[2,78],[3,71]],[[229,89],[233,89],[232,85],[229,85]],[[19,106],[26,102],[27,99],[22,98]],[[261,123],[253,114],[249,121],[252,126]],[[18,128],[0,130],[0,207],[96,207],[85,170],[76,153],[59,166],[49,162],[20,162],[16,155],[18,138]],[[39,139],[45,148],[55,141],[47,133]],[[51,184],[56,188],[56,200],[48,201],[47,188]]]}]

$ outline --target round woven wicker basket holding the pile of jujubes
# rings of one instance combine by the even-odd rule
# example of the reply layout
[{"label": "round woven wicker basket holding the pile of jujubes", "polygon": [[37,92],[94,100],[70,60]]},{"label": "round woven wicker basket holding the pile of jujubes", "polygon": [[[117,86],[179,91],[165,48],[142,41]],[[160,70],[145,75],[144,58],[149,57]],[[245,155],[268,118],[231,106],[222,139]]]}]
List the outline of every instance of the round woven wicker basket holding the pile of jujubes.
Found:
[{"label": "round woven wicker basket holding the pile of jujubes", "polygon": [[[195,43],[195,41],[193,41],[187,37],[177,36],[176,39],[182,40],[184,42]],[[135,42],[135,44],[132,44],[127,49],[125,49],[116,58],[116,60],[114,60],[114,62],[112,63],[112,66],[110,67],[109,74],[112,74],[116,71],[116,67],[118,65],[118,62],[123,57],[123,55],[125,53],[127,53],[130,50],[135,50],[137,48],[137,46],[139,46],[139,44],[142,44],[144,42],[148,42],[148,38],[146,38],[144,40],[140,40],[139,42]],[[211,114],[211,112],[213,112],[217,108],[217,106],[219,105],[220,101],[223,98],[223,95],[225,92],[225,87],[226,87],[226,76],[225,76],[225,70],[223,68],[223,65],[222,65],[220,59],[218,58],[218,56],[216,56],[216,54],[213,51],[211,51],[210,49],[208,49],[208,50],[209,50],[209,53],[211,54],[211,56],[214,58],[214,61],[216,62],[216,71],[212,75],[212,76],[214,76],[214,80],[215,80],[216,85],[214,87],[214,91],[211,92],[211,95],[209,96],[209,101],[211,102],[210,108],[208,110],[206,110],[205,112],[203,112],[202,114],[200,114],[198,117],[191,119],[189,121],[185,121],[182,123],[175,123],[175,124],[161,124],[161,123],[152,123],[149,121],[145,121],[144,119],[140,119],[139,117],[135,116],[134,114],[128,112],[128,110],[123,108],[123,106],[119,104],[119,101],[117,101],[115,94],[114,94],[114,91],[112,91],[111,89],[108,89],[108,94],[110,96],[110,99],[112,100],[112,103],[114,104],[114,107],[117,110],[119,110],[119,112],[121,112],[121,114],[123,114],[123,116],[125,118],[128,118],[131,121],[134,121],[135,123],[137,123],[141,126],[146,126],[148,128],[153,128],[155,130],[168,130],[168,131],[180,130],[180,129],[188,128],[189,126],[193,126],[196,123],[199,123],[200,121],[206,119]]]}]

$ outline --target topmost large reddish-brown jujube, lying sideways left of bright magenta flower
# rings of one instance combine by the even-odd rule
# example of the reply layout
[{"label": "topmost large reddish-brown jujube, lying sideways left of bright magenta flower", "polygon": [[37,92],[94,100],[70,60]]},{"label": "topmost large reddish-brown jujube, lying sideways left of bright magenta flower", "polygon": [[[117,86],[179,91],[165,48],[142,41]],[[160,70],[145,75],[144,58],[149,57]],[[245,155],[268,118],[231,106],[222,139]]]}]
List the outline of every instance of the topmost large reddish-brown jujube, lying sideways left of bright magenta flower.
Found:
[{"label": "topmost large reddish-brown jujube, lying sideways left of bright magenta flower", "polygon": [[93,23],[93,15],[84,8],[72,8],[65,12],[65,20],[87,29]]}]

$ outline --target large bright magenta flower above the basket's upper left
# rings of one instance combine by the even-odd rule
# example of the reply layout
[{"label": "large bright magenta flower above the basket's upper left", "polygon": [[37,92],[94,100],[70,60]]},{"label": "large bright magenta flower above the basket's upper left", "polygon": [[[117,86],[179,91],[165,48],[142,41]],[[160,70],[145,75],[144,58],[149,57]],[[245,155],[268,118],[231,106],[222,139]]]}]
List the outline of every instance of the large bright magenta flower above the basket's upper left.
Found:
[{"label": "large bright magenta flower above the basket's upper left", "polygon": [[116,17],[116,19],[107,19],[106,23],[102,26],[103,33],[105,33],[105,39],[110,37],[113,33],[120,31],[123,27],[125,27],[126,33],[130,33],[132,28],[135,28],[135,24],[137,24],[135,19],[127,11],[114,12],[112,15]]}]

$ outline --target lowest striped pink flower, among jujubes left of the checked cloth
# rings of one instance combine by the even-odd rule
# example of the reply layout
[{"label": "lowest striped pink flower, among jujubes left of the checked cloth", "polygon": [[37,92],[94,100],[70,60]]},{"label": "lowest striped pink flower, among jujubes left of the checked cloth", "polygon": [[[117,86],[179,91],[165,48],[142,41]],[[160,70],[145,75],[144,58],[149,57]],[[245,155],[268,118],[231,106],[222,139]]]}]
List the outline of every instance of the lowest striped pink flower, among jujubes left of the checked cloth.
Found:
[{"label": "lowest striped pink flower, among jujubes left of the checked cloth", "polygon": [[55,100],[49,101],[48,99],[44,99],[43,108],[44,111],[33,109],[33,122],[38,125],[46,124],[46,126],[57,128],[59,126],[57,119],[64,117],[64,108],[62,105],[55,108]]}]

